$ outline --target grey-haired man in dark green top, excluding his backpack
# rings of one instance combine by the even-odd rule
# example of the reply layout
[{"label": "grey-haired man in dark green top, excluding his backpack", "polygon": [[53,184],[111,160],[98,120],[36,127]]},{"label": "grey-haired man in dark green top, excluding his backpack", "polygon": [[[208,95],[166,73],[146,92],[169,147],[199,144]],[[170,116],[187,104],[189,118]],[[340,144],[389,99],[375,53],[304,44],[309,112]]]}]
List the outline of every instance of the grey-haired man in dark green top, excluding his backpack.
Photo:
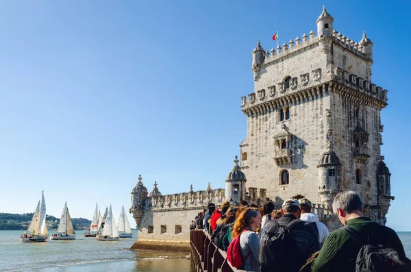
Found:
[{"label": "grey-haired man in dark green top, excluding his backpack", "polygon": [[[361,236],[369,236],[371,243],[384,245],[398,251],[399,256],[406,259],[406,254],[394,230],[384,227],[362,214],[362,201],[353,191],[336,195],[332,203],[334,213],[338,215],[343,225],[348,225],[359,232]],[[362,245],[356,242],[343,230],[330,233],[323,249],[312,263],[312,272],[322,271],[356,271],[356,258]]]}]

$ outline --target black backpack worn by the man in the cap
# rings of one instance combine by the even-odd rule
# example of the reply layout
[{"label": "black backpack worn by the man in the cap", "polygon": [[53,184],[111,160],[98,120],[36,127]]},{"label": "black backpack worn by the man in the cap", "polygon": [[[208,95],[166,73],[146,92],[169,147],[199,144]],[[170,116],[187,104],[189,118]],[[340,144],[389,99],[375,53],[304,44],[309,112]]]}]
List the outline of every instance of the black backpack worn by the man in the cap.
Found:
[{"label": "black backpack worn by the man in the cap", "polygon": [[292,260],[294,255],[290,252],[295,252],[296,247],[290,230],[301,222],[303,221],[294,219],[287,225],[279,225],[277,219],[273,219],[266,223],[262,230],[258,251],[261,272],[299,270],[299,267],[292,267],[292,264],[296,263]]}]

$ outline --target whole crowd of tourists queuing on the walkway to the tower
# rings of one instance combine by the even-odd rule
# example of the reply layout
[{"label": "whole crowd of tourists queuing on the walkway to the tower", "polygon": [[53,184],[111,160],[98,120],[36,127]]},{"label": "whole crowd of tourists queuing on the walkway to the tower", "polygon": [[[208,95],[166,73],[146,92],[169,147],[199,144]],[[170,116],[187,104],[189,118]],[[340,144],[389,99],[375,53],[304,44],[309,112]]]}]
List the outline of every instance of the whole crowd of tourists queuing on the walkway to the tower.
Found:
[{"label": "whole crowd of tourists queuing on the walkway to the tower", "polygon": [[245,271],[411,271],[395,231],[364,217],[357,193],[339,193],[332,208],[344,227],[331,233],[303,195],[279,210],[273,202],[208,203],[190,230],[204,229],[232,267]]}]

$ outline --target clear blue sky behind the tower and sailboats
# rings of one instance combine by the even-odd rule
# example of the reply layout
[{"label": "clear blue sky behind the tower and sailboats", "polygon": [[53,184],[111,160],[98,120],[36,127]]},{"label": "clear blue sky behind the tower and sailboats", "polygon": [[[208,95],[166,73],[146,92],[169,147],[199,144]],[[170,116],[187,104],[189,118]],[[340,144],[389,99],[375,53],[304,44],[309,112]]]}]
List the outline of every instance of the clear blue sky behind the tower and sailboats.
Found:
[{"label": "clear blue sky behind the tower and sailboats", "polygon": [[[374,43],[389,90],[382,154],[393,173],[388,225],[411,231],[408,1],[2,1],[0,212],[72,217],[130,205],[142,174],[163,194],[225,186],[247,133],[251,51],[334,28]],[[296,192],[297,193],[297,192]],[[131,217],[129,217],[131,219]],[[134,222],[132,223],[134,226]]]}]

